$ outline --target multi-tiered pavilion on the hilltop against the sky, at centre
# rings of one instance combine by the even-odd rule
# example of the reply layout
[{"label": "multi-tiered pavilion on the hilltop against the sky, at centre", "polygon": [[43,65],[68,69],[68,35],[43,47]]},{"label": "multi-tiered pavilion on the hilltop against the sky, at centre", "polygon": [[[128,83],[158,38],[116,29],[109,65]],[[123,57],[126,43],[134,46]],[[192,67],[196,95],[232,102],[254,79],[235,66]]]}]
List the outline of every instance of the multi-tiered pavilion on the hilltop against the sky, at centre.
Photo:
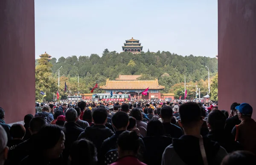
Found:
[{"label": "multi-tiered pavilion on the hilltop against the sky, at centre", "polygon": [[125,46],[122,46],[122,50],[131,52],[133,54],[140,53],[143,48],[143,46],[140,46],[140,40],[135,40],[133,37],[131,37],[130,40],[125,40],[124,45]]}]

